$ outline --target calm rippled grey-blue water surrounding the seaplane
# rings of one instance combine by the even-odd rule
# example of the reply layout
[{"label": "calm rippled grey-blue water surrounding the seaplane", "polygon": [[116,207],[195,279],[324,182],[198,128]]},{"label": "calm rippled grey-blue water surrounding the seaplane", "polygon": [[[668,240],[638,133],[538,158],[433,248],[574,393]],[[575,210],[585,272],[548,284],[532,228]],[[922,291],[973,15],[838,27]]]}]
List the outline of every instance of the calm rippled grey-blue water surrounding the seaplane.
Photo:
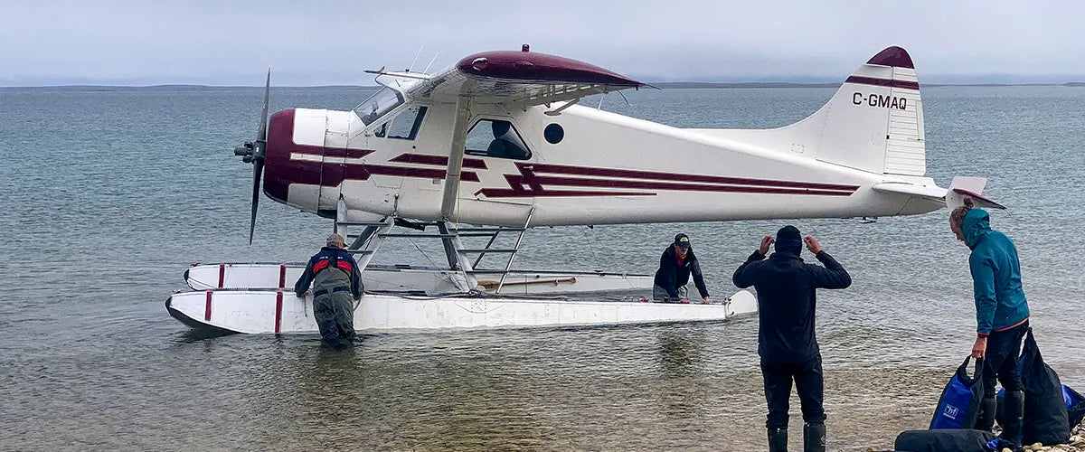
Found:
[{"label": "calm rippled grey-blue water surrounding the seaplane", "polygon": [[[344,109],[368,92],[276,89],[271,107]],[[644,90],[603,107],[681,127],[777,127],[832,92]],[[754,318],[380,335],[343,353],[316,337],[193,336],[163,307],[189,263],[303,260],[330,227],[264,198],[247,245],[252,167],[231,150],[255,134],[261,96],[0,90],[0,450],[764,448]],[[928,173],[943,186],[991,179],[985,194],[1010,206],[993,224],[1020,248],[1044,358],[1085,387],[1085,89],[934,87],[923,101]],[[968,249],[945,211],[793,223],[855,281],[819,295],[829,447],[890,447],[926,427],[971,347]],[[781,224],[533,230],[516,263],[650,273],[686,232],[720,298]]]}]

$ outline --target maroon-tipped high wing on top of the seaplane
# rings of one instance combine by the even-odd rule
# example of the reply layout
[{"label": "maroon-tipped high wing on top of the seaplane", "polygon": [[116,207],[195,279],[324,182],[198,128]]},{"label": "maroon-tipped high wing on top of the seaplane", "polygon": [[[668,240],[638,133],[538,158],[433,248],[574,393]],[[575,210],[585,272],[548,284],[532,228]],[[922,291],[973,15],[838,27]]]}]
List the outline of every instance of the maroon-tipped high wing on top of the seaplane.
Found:
[{"label": "maroon-tipped high wing on top of the seaplane", "polygon": [[524,51],[490,51],[460,60],[456,66],[410,87],[419,100],[542,105],[586,95],[646,86],[602,67],[576,60]]}]

